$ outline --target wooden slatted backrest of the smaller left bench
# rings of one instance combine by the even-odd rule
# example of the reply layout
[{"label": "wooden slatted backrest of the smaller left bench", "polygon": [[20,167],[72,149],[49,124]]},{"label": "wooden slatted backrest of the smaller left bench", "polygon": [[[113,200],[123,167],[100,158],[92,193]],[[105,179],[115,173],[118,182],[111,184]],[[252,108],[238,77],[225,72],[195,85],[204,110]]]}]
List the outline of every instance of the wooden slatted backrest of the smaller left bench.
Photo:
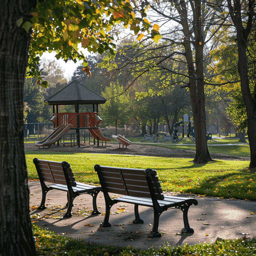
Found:
[{"label": "wooden slatted backrest of the smaller left bench", "polygon": [[47,161],[37,158],[34,158],[33,162],[36,166],[40,182],[46,181],[67,186],[71,185],[72,187],[76,186],[74,174],[69,163],[65,161]]}]

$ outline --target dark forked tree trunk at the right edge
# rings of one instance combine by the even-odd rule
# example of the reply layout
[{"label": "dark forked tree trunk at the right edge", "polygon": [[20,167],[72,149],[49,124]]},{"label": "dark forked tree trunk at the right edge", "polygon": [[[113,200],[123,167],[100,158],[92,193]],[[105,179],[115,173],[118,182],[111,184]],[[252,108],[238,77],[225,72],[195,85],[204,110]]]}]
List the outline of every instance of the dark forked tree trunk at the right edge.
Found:
[{"label": "dark forked tree trunk at the right edge", "polygon": [[[247,4],[247,3],[246,3]],[[229,12],[232,22],[236,29],[236,40],[238,49],[238,72],[241,80],[241,90],[244,99],[244,104],[247,113],[247,134],[250,144],[251,161],[249,168],[256,168],[256,98],[251,94],[249,78],[248,78],[248,65],[247,65],[247,39],[251,32],[254,17],[255,0],[248,1],[248,19],[246,28],[244,28],[244,18],[241,15],[241,1],[234,1],[232,6],[231,0],[228,0]],[[255,93],[254,88],[254,93]]]}]

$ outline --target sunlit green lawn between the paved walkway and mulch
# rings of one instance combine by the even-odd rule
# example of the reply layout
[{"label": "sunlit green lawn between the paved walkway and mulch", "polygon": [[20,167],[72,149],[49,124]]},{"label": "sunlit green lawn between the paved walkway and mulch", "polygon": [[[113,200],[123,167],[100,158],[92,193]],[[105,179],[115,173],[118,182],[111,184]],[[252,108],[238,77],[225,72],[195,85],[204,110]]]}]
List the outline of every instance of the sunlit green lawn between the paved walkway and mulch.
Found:
[{"label": "sunlit green lawn between the paved walkway and mulch", "polygon": [[144,157],[61,152],[26,152],[28,178],[38,179],[33,158],[67,161],[76,181],[99,184],[94,165],[157,170],[164,191],[194,193],[220,198],[256,201],[256,174],[248,170],[249,161],[218,160],[194,164],[187,158]]}]

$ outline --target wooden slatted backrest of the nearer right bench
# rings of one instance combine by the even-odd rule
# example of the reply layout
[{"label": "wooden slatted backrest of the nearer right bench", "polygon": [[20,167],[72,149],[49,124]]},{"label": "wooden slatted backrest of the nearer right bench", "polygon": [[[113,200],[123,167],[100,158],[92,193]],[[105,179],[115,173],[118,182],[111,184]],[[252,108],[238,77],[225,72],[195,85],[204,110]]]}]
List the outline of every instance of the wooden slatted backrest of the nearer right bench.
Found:
[{"label": "wooden slatted backrest of the nearer right bench", "polygon": [[[121,195],[151,198],[150,189],[156,199],[163,200],[162,188],[155,170],[117,168],[95,165],[103,191]],[[151,170],[153,175],[147,175]],[[148,177],[146,177],[148,176]]]}]

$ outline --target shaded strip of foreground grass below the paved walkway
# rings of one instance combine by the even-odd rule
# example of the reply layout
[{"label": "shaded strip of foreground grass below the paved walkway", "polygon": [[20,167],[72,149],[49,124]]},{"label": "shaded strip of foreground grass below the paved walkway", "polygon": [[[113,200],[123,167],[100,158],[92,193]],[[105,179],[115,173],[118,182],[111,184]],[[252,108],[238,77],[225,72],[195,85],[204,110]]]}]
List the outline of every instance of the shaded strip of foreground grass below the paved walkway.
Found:
[{"label": "shaded strip of foreground grass below the paved walkway", "polygon": [[99,244],[88,244],[83,240],[56,235],[54,232],[42,229],[33,224],[36,237],[38,255],[56,256],[177,256],[177,255],[256,255],[256,239],[220,240],[213,244],[202,243],[197,245],[169,246],[168,242],[154,250],[138,250],[133,247],[115,247]]}]

